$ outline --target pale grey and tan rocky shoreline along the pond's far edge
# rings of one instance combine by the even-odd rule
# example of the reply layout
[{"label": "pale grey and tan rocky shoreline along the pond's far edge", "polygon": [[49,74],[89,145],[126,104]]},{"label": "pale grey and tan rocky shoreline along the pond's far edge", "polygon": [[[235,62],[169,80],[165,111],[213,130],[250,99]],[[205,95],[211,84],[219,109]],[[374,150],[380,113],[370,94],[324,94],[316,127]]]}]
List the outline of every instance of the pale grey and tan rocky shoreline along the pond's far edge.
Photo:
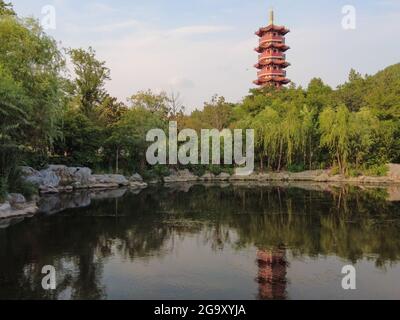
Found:
[{"label": "pale grey and tan rocky shoreline along the pond's far edge", "polygon": [[[31,167],[22,167],[22,172],[26,181],[38,187],[41,197],[36,197],[36,199],[32,199],[32,201],[27,201],[25,197],[20,194],[9,194],[6,202],[0,203],[0,219],[30,216],[42,211],[50,213],[58,212],[66,208],[75,207],[74,203],[79,202],[82,204],[87,202],[88,205],[90,205],[90,200],[96,197],[110,197],[113,196],[112,193],[121,196],[121,194],[124,194],[128,189],[131,191],[140,191],[148,187],[148,184],[139,174],[134,174],[129,178],[118,174],[100,175],[92,174],[89,168],[51,165],[41,171],[37,171]],[[164,182],[165,185],[214,182],[246,183],[249,185],[273,182],[308,182],[327,185],[355,184],[390,186],[400,184],[400,165],[389,164],[387,175],[382,177],[345,177],[341,175],[332,175],[330,170],[310,170],[299,173],[254,173],[249,176],[229,175],[228,173],[221,173],[219,175],[206,173],[199,177],[189,170],[171,170],[170,175],[164,177],[162,182]],[[75,191],[80,191],[80,193],[77,195]],[[85,199],[75,199],[76,197],[82,197],[82,192]],[[68,201],[62,201],[62,203],[68,203],[68,205],[61,206],[59,204],[61,203],[60,198],[68,198]]]}]

